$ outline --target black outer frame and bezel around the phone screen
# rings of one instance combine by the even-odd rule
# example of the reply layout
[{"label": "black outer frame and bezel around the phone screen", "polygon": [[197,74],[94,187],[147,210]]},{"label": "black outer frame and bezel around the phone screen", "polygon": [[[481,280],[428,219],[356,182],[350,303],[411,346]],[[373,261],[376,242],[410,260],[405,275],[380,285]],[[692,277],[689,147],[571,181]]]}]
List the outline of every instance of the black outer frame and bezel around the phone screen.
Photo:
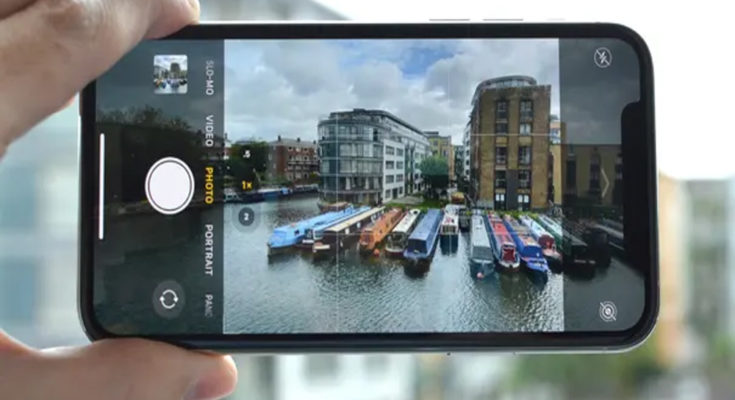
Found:
[{"label": "black outer frame and bezel around the phone screen", "polygon": [[[631,126],[640,135],[628,135],[633,152],[624,152],[623,165],[637,171],[625,175],[626,233],[635,232],[637,245],[630,259],[647,271],[645,306],[641,318],[625,331],[381,333],[381,334],[250,334],[143,336],[184,347],[247,352],[318,351],[619,351],[643,342],[653,330],[659,308],[657,176],[654,143],[653,68],[647,45],[631,29],[606,23],[245,23],[201,24],[160,40],[171,39],[306,39],[306,38],[613,38],[637,53],[641,98]],[[92,340],[119,337],[95,318],[93,305],[94,226],[97,209],[98,140],[95,134],[95,83],[80,95],[80,230],[79,310]],[[632,168],[627,168],[631,170]],[[645,173],[642,173],[644,171]],[[631,193],[635,193],[631,196]],[[626,235],[626,242],[628,241]],[[641,242],[643,241],[643,242]],[[626,244],[627,245],[627,244]]]}]

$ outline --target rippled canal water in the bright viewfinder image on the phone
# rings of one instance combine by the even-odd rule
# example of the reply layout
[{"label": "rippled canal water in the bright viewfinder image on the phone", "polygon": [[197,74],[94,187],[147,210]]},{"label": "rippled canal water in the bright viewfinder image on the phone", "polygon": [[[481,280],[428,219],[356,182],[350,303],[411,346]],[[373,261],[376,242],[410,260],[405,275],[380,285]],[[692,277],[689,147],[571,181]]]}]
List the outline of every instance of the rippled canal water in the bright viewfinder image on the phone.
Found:
[{"label": "rippled canal water in the bright viewfinder image on the phone", "polygon": [[471,276],[469,235],[437,249],[423,274],[355,249],[315,260],[299,250],[269,260],[273,228],[319,212],[316,197],[225,206],[225,333],[517,332],[564,329],[564,280],[523,271]]}]

